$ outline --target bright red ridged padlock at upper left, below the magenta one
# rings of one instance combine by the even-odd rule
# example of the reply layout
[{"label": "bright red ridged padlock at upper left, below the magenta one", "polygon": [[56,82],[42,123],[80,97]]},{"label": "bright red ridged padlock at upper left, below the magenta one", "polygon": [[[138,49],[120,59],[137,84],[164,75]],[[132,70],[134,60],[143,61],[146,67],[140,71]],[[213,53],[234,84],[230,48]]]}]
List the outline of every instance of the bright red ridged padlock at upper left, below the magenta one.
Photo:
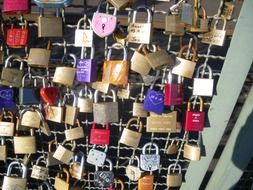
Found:
[{"label": "bright red ridged padlock at upper left, below the magenta one", "polygon": [[14,24],[11,24],[11,28],[7,29],[6,32],[6,45],[9,48],[24,48],[28,44],[28,28],[27,21],[24,20],[21,23],[22,27],[14,27]]}]

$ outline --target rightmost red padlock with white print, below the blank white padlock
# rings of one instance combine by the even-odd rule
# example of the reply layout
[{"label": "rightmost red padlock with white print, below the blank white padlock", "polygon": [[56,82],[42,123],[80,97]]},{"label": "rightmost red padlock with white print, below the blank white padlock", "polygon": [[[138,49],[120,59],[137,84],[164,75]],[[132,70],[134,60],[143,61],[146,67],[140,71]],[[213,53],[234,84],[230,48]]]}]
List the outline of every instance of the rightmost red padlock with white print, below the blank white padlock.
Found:
[{"label": "rightmost red padlock with white print, below the blank white padlock", "polygon": [[[199,99],[199,111],[191,110],[192,100]],[[185,118],[186,131],[203,131],[205,122],[205,112],[203,111],[204,102],[200,96],[192,96],[187,103],[187,112]]]}]

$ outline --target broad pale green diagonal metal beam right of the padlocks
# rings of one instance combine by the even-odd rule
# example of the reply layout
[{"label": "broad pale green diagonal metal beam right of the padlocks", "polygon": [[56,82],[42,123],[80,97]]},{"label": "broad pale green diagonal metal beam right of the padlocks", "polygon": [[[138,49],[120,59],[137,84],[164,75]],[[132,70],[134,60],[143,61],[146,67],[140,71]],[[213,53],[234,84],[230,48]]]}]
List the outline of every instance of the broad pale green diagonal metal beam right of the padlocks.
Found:
[{"label": "broad pale green diagonal metal beam right of the padlocks", "polygon": [[250,40],[253,33],[252,10],[253,1],[245,0],[217,84],[217,94],[212,99],[207,115],[210,127],[203,132],[206,157],[190,162],[185,175],[186,183],[182,184],[181,190],[199,189],[249,72],[253,60]]}]

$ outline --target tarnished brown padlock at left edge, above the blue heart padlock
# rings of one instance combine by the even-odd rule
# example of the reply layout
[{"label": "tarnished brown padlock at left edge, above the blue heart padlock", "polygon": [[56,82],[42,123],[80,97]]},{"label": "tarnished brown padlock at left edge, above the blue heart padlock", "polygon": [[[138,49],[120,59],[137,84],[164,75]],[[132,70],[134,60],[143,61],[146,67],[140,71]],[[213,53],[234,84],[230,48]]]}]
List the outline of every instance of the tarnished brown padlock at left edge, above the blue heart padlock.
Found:
[{"label": "tarnished brown padlock at left edge, above the blue heart padlock", "polygon": [[[10,68],[13,62],[19,62],[20,68]],[[5,60],[5,65],[1,74],[1,84],[5,86],[21,87],[23,78],[23,60],[20,56],[12,54]]]}]

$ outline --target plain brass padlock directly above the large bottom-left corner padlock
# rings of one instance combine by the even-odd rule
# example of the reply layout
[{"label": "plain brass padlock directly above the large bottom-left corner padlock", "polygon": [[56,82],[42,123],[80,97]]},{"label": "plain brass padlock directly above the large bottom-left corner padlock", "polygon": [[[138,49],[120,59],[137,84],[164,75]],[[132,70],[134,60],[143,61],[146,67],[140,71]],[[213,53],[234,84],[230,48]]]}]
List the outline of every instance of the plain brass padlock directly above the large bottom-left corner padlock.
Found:
[{"label": "plain brass padlock directly above the large bottom-left corner padlock", "polygon": [[18,136],[18,132],[13,139],[15,154],[34,154],[37,152],[34,129],[30,129],[30,136]]}]

